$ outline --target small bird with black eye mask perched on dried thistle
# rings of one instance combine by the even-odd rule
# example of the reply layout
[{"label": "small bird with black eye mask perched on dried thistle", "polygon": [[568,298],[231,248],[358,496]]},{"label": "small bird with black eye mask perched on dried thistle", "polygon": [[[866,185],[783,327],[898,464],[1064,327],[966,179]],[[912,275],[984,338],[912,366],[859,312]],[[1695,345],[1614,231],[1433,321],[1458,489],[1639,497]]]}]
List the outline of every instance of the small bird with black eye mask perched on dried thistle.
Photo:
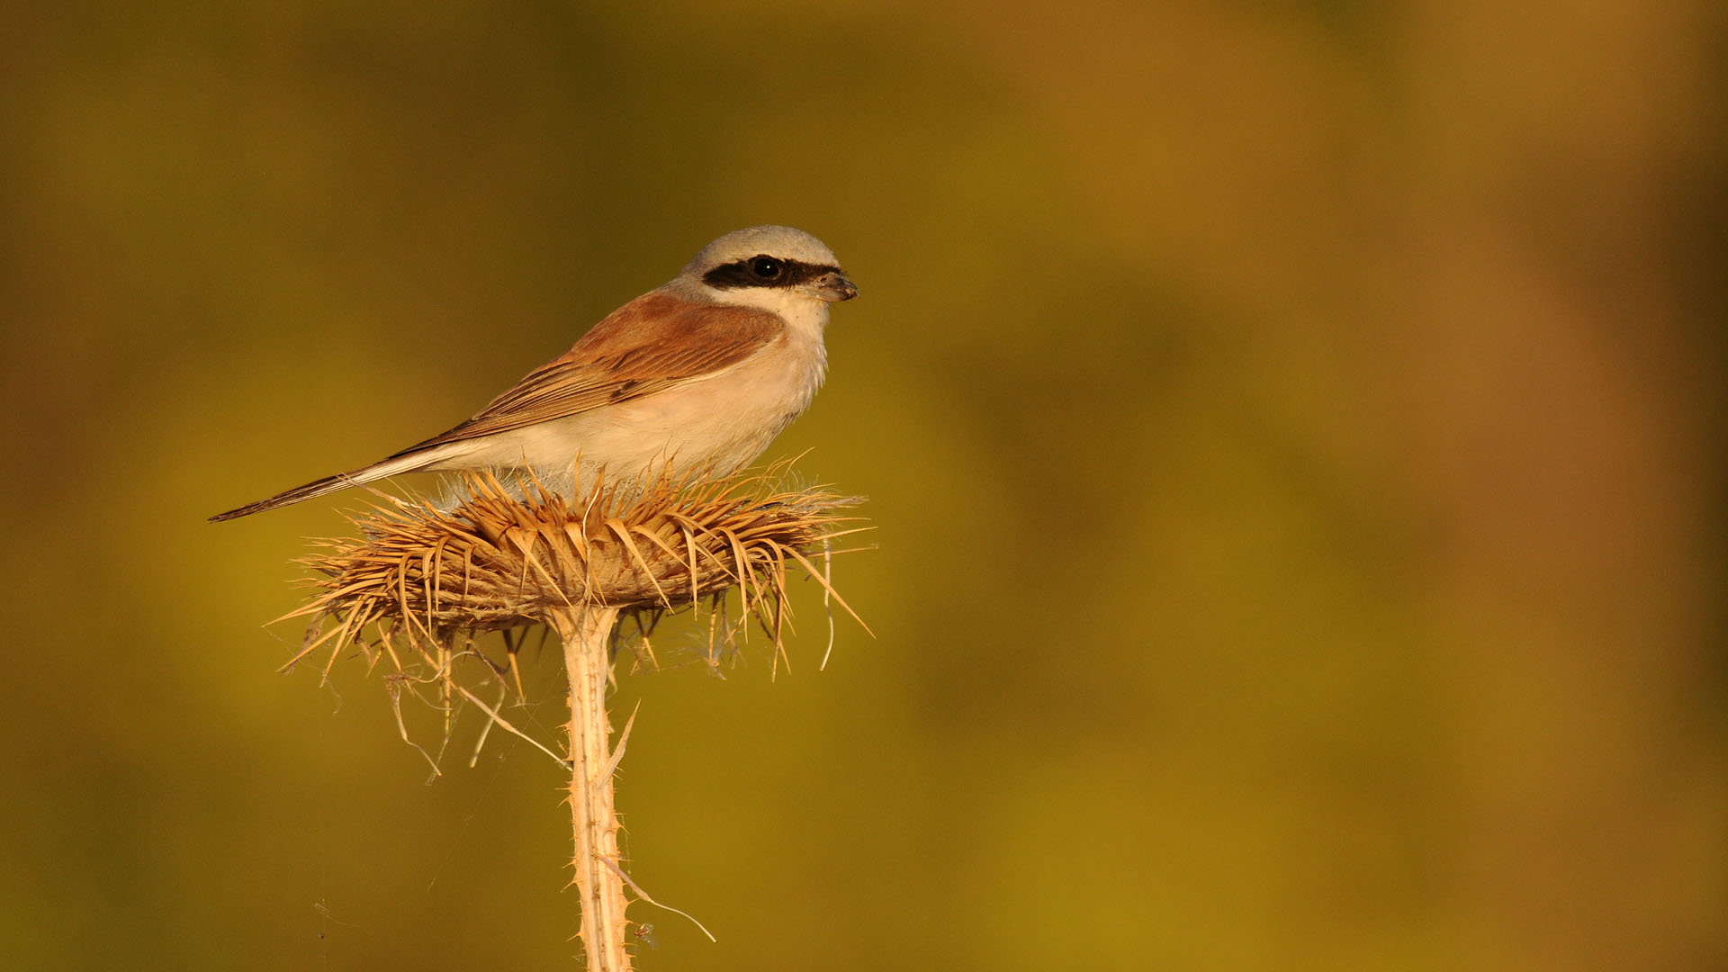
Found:
[{"label": "small bird with black eye mask perched on dried thistle", "polygon": [[828,372],[829,304],[857,285],[791,227],[729,232],[467,422],[372,465],[221,514],[232,521],[403,472],[465,469],[608,479],[748,465],[809,408]]}]

